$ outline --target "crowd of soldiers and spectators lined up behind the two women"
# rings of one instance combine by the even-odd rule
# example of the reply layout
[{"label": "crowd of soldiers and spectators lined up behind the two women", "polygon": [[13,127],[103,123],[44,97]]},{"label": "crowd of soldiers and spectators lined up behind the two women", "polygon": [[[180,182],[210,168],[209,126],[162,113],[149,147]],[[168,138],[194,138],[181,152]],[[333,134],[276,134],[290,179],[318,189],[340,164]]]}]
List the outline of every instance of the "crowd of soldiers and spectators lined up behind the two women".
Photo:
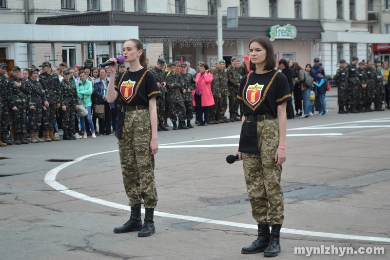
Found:
[{"label": "crowd of soldiers and spectators lined up behind the two women", "polygon": [[[148,64],[161,92],[157,100],[157,131],[169,130],[168,118],[173,130],[194,128],[194,113],[197,126],[241,121],[242,105],[236,96],[241,78],[251,70],[249,62],[241,63],[236,57],[230,63],[226,68],[225,60],[215,58],[209,67],[200,61],[196,70],[188,61],[167,65],[159,58],[156,66]],[[0,146],[27,144],[30,137],[31,142],[38,143],[58,141],[59,135],[64,140],[113,135],[118,108],[116,102],[106,99],[112,78],[109,66],[73,68],[63,62],[52,67],[50,62],[43,62],[39,67],[31,65],[21,70],[15,66],[7,73],[8,66],[0,64]],[[325,96],[330,83],[318,58],[304,68],[293,60],[277,60],[275,69],[286,76],[294,97],[294,107],[292,102],[287,104],[287,119],[308,118],[315,111],[317,115],[327,114]],[[119,64],[113,77],[124,71],[125,64]],[[388,77],[387,61],[358,62],[356,56],[351,64],[340,60],[334,78],[338,113],[383,111],[382,103],[389,108]],[[88,111],[84,118],[78,117],[79,105]],[[229,118],[225,116],[228,106]]]}]

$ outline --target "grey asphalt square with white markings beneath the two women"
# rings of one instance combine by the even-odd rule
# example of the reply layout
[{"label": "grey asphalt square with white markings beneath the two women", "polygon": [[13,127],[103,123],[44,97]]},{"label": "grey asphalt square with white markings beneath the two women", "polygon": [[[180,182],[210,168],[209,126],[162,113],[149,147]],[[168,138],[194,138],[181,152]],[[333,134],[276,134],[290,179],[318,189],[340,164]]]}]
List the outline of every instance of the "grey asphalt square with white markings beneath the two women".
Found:
[{"label": "grey asphalt square with white markings beneath the two women", "polygon": [[[383,247],[385,254],[342,257],[389,259],[390,110],[340,115],[336,97],[326,100],[326,116],[288,120],[277,259],[306,258],[294,248],[321,246]],[[130,215],[115,136],[0,147],[0,259],[263,258],[240,253],[257,230],[242,162],[225,160],[239,133],[239,122],[158,132],[149,238],[113,233]]]}]

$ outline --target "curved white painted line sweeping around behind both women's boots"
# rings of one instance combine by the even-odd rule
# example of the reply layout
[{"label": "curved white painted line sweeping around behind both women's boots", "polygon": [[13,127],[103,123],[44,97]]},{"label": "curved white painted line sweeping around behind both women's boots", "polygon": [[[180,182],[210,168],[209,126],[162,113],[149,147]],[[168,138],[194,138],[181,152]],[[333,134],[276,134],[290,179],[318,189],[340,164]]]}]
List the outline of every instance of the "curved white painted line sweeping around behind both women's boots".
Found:
[{"label": "curved white painted line sweeping around behind both women's boots", "polygon": [[[118,150],[113,151],[107,151],[102,153],[96,153],[96,154],[90,154],[85,155],[82,157],[79,157],[73,161],[65,162],[56,168],[50,170],[45,175],[45,183],[49,186],[53,187],[55,190],[58,190],[59,192],[62,192],[66,195],[72,196],[74,198],[77,198],[79,200],[86,200],[90,202],[94,202],[100,205],[127,210],[130,211],[130,206],[118,204],[115,202],[107,201],[107,200],[101,200],[97,198],[89,197],[85,194],[73,191],[65,187],[64,185],[60,184],[56,181],[57,174],[60,170],[68,167],[69,165],[72,165],[73,163],[76,163],[78,161],[84,160],[86,158],[89,158],[91,156],[95,155],[101,155],[101,154],[107,154],[112,152],[117,152]],[[145,210],[141,209],[142,213],[145,213]],[[170,213],[164,213],[155,211],[155,216],[164,217],[164,218],[173,218],[173,219],[179,219],[179,220],[189,220],[189,221],[195,221],[195,222],[201,222],[201,223],[212,223],[212,224],[218,224],[218,225],[225,225],[225,226],[234,226],[234,227],[240,227],[240,228],[250,228],[250,229],[257,229],[257,225],[252,224],[245,224],[245,223],[237,223],[237,222],[231,222],[231,221],[223,221],[223,220],[210,220],[210,219],[204,219],[204,218],[198,218],[198,217],[191,217],[191,216],[185,216],[185,215],[176,215],[176,214],[170,214]],[[294,235],[302,235],[302,236],[312,236],[312,237],[323,237],[323,238],[337,238],[337,239],[347,239],[347,240],[367,240],[367,241],[379,241],[379,242],[390,242],[390,239],[388,238],[378,238],[378,237],[365,237],[365,236],[351,236],[351,235],[343,235],[343,234],[334,234],[334,233],[324,233],[324,232],[314,232],[314,231],[306,231],[306,230],[297,230],[297,229],[289,229],[289,228],[282,228],[282,233],[287,234],[294,234]]]}]

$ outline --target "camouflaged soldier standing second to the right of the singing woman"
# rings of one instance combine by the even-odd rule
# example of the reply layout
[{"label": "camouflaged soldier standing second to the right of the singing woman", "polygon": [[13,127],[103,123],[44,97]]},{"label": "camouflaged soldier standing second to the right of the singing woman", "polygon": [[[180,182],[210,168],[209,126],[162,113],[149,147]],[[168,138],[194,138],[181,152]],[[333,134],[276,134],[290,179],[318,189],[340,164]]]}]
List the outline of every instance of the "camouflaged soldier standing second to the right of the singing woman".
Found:
[{"label": "camouflaged soldier standing second to the right of the singing woman", "polygon": [[[168,88],[168,103],[169,103],[169,118],[171,119],[174,127],[177,129],[189,129],[185,123],[186,108],[184,106],[183,97],[181,93],[185,93],[184,81],[180,73],[176,73],[176,63],[169,63],[169,69],[171,73],[167,76],[167,88]],[[176,117],[176,114],[177,117]],[[177,126],[176,120],[179,119]]]}]

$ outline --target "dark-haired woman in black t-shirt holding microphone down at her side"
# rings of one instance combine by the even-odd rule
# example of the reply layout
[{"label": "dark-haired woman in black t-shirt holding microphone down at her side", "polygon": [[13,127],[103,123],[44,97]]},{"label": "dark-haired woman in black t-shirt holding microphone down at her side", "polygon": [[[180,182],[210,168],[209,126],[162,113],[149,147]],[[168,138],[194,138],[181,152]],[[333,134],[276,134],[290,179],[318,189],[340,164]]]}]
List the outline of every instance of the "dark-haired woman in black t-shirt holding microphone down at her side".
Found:
[{"label": "dark-haired woman in black t-shirt holding microphone down at her side", "polygon": [[264,251],[264,256],[275,257],[280,253],[279,234],[284,220],[280,177],[286,160],[286,105],[292,97],[286,76],[274,69],[271,41],[267,37],[254,38],[249,53],[253,72],[242,77],[237,94],[244,115],[234,155],[238,155],[237,161],[243,160],[258,238],[241,253]]}]

